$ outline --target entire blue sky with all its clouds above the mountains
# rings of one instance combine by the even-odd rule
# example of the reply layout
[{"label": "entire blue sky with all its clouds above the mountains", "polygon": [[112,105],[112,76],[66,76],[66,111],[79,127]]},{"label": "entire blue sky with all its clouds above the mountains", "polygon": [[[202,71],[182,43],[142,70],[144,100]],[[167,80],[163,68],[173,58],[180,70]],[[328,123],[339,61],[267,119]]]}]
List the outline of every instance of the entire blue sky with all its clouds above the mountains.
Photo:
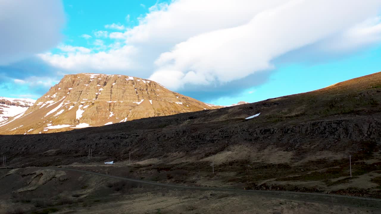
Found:
[{"label": "entire blue sky with all its clouds above the mountains", "polygon": [[371,0],[21,2],[0,5],[12,20],[0,19],[0,96],[37,99],[65,74],[93,72],[230,105],[381,71]]}]

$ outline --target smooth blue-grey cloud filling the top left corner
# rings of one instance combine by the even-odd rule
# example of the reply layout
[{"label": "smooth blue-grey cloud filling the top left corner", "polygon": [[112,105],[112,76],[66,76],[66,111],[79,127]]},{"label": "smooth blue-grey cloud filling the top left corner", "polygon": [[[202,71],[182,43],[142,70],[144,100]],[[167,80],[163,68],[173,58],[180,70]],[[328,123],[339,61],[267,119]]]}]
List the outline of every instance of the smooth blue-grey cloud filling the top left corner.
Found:
[{"label": "smooth blue-grey cloud filling the top left corner", "polygon": [[62,38],[60,1],[0,1],[0,65],[49,50]]}]

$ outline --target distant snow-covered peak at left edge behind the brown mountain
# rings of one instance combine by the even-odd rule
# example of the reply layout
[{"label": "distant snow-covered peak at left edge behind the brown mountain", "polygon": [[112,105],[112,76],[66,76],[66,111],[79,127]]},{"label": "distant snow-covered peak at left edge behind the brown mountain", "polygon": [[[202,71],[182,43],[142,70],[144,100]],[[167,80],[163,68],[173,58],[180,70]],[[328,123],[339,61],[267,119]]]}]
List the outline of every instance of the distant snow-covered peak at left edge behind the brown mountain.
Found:
[{"label": "distant snow-covered peak at left edge behind the brown mountain", "polygon": [[29,98],[0,97],[0,121],[24,113],[35,102]]}]

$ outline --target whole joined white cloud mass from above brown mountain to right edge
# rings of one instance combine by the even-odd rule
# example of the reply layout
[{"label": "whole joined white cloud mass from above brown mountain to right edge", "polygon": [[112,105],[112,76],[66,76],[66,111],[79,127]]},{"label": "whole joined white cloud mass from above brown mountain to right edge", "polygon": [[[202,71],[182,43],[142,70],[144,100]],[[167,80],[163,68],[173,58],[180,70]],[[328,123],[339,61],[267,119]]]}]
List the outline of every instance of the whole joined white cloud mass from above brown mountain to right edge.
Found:
[{"label": "whole joined white cloud mass from above brown mountain to right edge", "polygon": [[380,9],[375,0],[177,0],[125,32],[94,33],[118,39],[112,50],[40,56],[62,69],[136,70],[171,89],[221,85],[305,46],[329,54],[380,42]]}]

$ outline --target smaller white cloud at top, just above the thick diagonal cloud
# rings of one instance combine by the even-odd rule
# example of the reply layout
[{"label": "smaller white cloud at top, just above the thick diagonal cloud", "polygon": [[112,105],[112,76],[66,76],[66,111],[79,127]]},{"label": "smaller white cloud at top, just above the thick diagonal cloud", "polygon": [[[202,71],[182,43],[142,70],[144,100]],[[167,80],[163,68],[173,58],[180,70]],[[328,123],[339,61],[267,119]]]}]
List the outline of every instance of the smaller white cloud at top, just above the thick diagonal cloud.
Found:
[{"label": "smaller white cloud at top, just above the thick diagonal cloud", "polygon": [[[178,0],[160,3],[127,31],[129,43],[164,43],[167,48],[198,34],[246,24],[253,16],[284,0]],[[202,6],[200,6],[202,5]]]}]

